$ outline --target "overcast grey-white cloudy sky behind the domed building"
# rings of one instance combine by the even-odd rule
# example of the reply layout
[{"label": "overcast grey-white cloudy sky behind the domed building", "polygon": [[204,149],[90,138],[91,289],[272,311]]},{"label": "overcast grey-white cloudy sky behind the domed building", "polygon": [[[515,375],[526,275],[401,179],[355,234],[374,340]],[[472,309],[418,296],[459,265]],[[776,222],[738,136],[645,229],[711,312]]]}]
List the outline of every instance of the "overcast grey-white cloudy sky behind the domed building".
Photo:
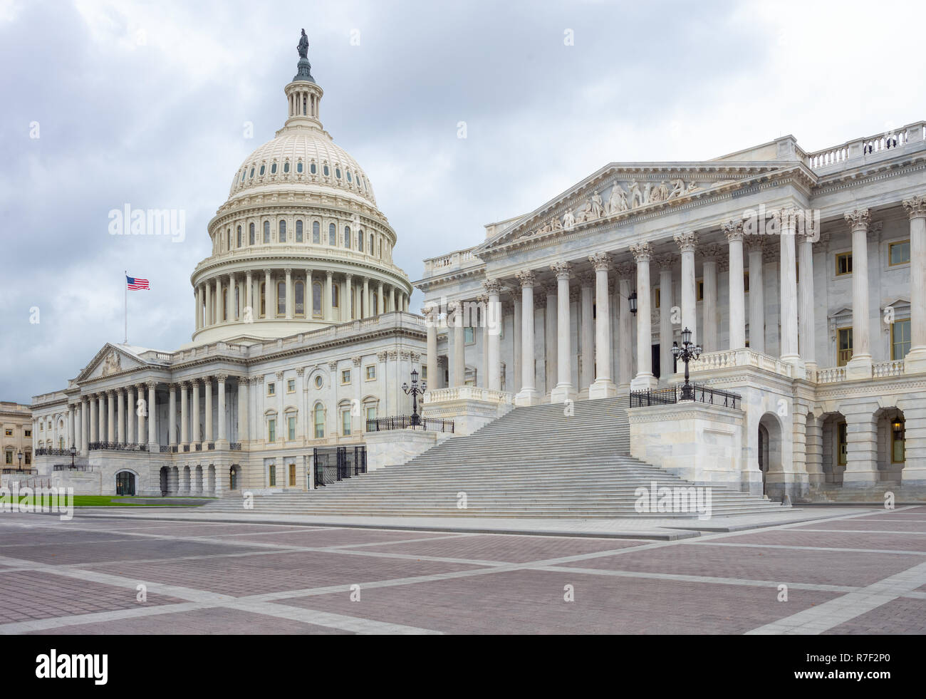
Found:
[{"label": "overcast grey-white cloudy sky behind the domed building", "polygon": [[[302,27],[325,128],[417,280],[610,161],[785,133],[816,150],[926,118],[924,18],[889,0],[0,0],[0,399],[122,341],[124,269],[152,286],[130,295],[130,343],[189,342],[206,223],[282,126]],[[126,204],[184,210],[185,240],[109,235]]]}]

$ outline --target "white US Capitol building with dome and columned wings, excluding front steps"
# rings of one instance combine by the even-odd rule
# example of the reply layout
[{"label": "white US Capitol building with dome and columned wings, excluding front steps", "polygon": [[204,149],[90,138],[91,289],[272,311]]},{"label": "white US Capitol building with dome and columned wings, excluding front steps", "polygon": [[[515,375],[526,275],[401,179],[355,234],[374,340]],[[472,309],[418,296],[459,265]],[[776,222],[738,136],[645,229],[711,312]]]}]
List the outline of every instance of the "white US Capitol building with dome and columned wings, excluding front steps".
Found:
[{"label": "white US Capitol building with dome and columned wings, excluding front steps", "polygon": [[[401,385],[417,369],[425,416],[457,435],[516,406],[617,396],[632,456],[689,481],[926,493],[926,122],[812,153],[783,136],[610,163],[425,260],[422,317],[300,55],[283,128],[208,224],[193,342],[107,343],[35,396],[40,475],[83,492],[310,490],[313,449],[409,415]],[[691,379],[710,389],[694,401],[679,400],[672,352],[686,329],[702,348]],[[93,471],[52,470],[71,444]]]}]

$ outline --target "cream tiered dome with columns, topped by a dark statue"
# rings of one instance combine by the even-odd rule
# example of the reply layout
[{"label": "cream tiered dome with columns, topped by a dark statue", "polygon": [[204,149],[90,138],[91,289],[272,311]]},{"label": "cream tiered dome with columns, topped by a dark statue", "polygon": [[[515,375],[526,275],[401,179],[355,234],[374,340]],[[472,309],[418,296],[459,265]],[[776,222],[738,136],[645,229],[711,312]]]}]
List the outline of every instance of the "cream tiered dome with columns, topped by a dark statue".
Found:
[{"label": "cream tiered dome with columns, topped by a dark statue", "polygon": [[255,343],[407,311],[395,232],[367,173],[319,119],[323,91],[300,51],[287,119],[235,171],[191,276],[193,344]]}]

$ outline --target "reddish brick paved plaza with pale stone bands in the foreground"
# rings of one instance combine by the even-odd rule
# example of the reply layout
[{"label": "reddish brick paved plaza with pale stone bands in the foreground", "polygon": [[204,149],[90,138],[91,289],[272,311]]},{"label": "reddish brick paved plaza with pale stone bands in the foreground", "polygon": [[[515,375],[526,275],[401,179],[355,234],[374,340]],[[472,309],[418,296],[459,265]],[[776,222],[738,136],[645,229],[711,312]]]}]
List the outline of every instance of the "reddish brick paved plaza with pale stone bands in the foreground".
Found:
[{"label": "reddish brick paved plaza with pale stone bands in the foreground", "polygon": [[0,631],[926,632],[926,506],[820,514],[670,542],[6,514]]}]

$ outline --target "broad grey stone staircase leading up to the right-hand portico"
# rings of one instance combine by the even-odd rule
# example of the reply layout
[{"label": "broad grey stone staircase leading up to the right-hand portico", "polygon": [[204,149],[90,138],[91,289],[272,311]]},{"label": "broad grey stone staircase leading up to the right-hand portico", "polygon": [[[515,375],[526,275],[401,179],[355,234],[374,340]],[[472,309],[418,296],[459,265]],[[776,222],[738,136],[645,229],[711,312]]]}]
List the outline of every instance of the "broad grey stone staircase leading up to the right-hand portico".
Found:
[{"label": "broad grey stone staircase leading up to the right-hand portico", "polygon": [[[452,437],[402,466],[380,468],[311,493],[255,495],[260,513],[382,517],[695,518],[639,514],[640,487],[690,486],[630,456],[626,397],[517,407],[466,437]],[[457,506],[466,493],[466,508]],[[713,488],[714,517],[787,508]],[[241,512],[235,496],[203,511]]]}]

